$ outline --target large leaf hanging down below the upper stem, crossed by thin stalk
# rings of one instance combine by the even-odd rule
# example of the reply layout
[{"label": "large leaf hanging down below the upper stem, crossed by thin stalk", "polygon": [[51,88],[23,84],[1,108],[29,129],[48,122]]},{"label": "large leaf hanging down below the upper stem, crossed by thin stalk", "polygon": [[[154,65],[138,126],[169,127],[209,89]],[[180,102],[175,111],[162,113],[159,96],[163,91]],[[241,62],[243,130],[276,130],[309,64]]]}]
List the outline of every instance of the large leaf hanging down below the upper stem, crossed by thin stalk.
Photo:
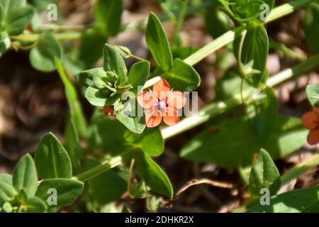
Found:
[{"label": "large leaf hanging down below the upper stem, crossed by thin stalk", "polygon": [[[235,57],[239,55],[241,36],[234,40]],[[262,76],[266,69],[266,62],[269,50],[269,40],[264,26],[258,26],[254,23],[250,26],[242,43],[242,55],[240,64],[250,65],[253,70],[259,70],[258,74],[246,75],[245,79],[254,87],[262,82]]]}]

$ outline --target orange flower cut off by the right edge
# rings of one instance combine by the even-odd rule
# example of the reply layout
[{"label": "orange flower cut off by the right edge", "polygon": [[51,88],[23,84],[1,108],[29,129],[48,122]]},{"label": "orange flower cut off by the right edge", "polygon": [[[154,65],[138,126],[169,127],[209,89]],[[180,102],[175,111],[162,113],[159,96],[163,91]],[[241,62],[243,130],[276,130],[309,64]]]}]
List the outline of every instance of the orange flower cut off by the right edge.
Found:
[{"label": "orange flower cut off by the right edge", "polygon": [[303,126],[310,130],[307,141],[310,145],[319,143],[319,108],[303,114]]}]

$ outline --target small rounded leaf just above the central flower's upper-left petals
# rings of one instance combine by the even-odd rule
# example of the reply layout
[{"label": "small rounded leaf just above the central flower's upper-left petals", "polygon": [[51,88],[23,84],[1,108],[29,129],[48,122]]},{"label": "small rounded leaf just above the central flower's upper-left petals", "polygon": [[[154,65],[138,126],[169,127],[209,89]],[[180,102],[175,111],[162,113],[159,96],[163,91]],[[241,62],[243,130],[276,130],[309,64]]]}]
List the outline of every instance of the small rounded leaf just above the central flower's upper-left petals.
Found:
[{"label": "small rounded leaf just above the central flower's upper-left petals", "polygon": [[[142,90],[147,78],[150,74],[150,62],[136,62],[130,67],[128,73],[128,84],[132,85],[134,94],[138,94]],[[138,87],[140,86],[140,89]]]}]

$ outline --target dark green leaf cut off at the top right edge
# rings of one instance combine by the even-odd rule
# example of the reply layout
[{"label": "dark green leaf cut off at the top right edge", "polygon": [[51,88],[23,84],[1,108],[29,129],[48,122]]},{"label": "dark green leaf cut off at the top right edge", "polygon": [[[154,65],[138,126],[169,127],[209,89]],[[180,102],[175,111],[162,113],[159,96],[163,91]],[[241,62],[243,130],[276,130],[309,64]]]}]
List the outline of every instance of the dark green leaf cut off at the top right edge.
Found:
[{"label": "dark green leaf cut off at the top right edge", "polygon": [[308,4],[305,12],[305,18],[303,18],[303,31],[306,36],[306,42],[308,47],[313,53],[319,52],[319,4]]}]

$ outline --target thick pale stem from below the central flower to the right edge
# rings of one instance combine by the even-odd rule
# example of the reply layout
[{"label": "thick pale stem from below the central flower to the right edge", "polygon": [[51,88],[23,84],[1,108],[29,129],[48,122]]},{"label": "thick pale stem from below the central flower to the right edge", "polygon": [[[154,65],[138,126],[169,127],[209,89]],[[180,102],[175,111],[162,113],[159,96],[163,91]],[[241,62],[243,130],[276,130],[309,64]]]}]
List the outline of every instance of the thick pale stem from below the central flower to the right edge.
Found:
[{"label": "thick pale stem from below the central flower to the right edge", "polygon": [[[306,60],[306,62],[302,62],[301,64],[296,65],[296,67],[279,72],[278,74],[268,79],[266,84],[269,87],[277,86],[282,82],[285,82],[286,80],[293,79],[294,77],[297,77],[302,73],[309,72],[310,70],[313,70],[318,66],[319,55],[315,55],[314,57],[310,57],[309,60]],[[243,92],[242,96],[244,97],[244,99],[247,99],[250,98],[251,94],[246,91]],[[259,96],[252,97],[248,104],[259,99]],[[201,123],[205,123],[206,121],[208,121],[208,119],[213,118],[214,116],[217,116],[219,114],[223,114],[225,113],[225,111],[233,109],[235,106],[238,106],[240,104],[242,104],[241,94],[237,94],[226,101],[219,101],[217,103],[209,104],[208,106],[201,109],[201,111],[198,111],[198,114],[186,117],[174,126],[163,128],[162,136],[164,140],[172,138],[174,135],[178,135],[180,133],[183,133],[184,131],[200,125]]]}]

